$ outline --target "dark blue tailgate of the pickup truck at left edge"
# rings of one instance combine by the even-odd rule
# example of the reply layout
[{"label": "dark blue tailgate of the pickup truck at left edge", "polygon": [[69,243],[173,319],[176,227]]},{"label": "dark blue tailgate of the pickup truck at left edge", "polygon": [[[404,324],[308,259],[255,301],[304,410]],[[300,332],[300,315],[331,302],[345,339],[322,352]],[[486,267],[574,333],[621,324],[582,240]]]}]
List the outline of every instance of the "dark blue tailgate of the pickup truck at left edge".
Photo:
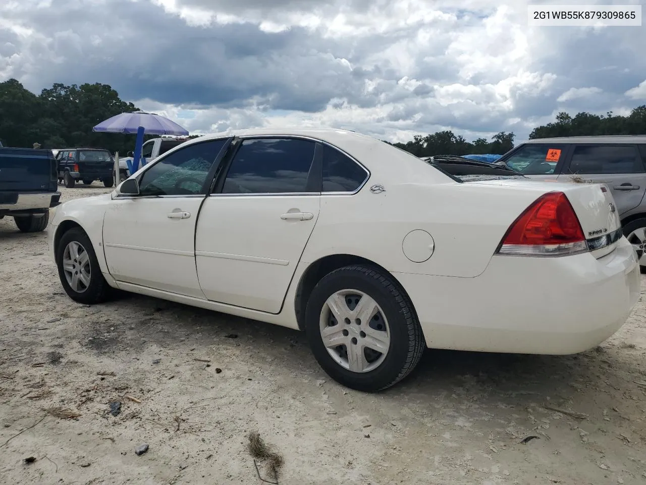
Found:
[{"label": "dark blue tailgate of the pickup truck at left edge", "polygon": [[55,192],[56,182],[56,160],[51,151],[0,148],[0,192]]}]

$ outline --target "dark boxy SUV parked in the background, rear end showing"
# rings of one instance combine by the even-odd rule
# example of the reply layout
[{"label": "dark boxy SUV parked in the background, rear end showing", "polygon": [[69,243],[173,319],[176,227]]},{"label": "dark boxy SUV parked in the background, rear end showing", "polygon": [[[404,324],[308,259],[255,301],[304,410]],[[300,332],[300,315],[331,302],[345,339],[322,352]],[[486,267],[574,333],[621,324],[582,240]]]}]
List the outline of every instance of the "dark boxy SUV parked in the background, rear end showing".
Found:
[{"label": "dark boxy SUV parked in the background, rear end showing", "polygon": [[100,180],[105,187],[114,185],[114,158],[110,152],[98,148],[66,148],[56,155],[58,181],[72,188],[77,180],[90,185]]}]

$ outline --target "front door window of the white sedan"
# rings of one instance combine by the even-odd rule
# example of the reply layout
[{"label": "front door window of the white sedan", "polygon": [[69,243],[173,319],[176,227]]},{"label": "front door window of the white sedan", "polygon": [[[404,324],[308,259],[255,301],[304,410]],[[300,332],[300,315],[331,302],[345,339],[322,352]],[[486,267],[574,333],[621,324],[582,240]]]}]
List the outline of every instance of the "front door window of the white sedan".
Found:
[{"label": "front door window of the white sedan", "polygon": [[141,177],[141,195],[196,195],[226,140],[189,145],[159,158]]}]

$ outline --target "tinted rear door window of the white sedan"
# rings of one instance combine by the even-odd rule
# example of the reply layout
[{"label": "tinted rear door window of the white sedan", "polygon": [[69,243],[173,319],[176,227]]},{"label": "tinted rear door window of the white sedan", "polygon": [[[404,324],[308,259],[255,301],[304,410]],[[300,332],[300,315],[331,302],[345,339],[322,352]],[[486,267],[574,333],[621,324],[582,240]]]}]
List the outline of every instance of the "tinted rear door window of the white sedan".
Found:
[{"label": "tinted rear door window of the white sedan", "polygon": [[309,140],[244,140],[231,162],[222,193],[314,192],[307,184],[314,147]]}]

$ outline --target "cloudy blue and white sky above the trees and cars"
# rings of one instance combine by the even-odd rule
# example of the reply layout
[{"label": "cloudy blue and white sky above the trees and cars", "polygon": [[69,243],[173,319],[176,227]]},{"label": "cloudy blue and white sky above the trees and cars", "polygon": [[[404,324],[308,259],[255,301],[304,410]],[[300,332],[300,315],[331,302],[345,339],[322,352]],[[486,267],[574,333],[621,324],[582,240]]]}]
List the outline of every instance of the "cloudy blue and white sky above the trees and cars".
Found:
[{"label": "cloudy blue and white sky above the trees and cars", "polygon": [[559,111],[646,104],[646,23],[532,27],[527,5],[0,0],[0,81],[107,83],[192,134],[329,126],[391,142],[446,129],[521,142]]}]

